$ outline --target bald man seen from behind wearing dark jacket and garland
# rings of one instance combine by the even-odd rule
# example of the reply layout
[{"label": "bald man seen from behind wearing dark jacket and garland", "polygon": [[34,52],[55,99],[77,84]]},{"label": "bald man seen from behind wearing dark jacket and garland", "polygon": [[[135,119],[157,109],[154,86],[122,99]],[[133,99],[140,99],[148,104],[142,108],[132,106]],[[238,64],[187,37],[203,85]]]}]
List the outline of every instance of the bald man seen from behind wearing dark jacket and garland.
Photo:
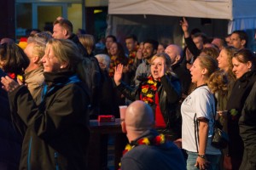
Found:
[{"label": "bald man seen from behind wearing dark jacket and garland", "polygon": [[175,144],[155,140],[160,139],[160,134],[153,128],[154,113],[149,105],[140,100],[131,103],[121,125],[131,144],[131,150],[121,159],[122,170],[186,169],[181,150]]}]

